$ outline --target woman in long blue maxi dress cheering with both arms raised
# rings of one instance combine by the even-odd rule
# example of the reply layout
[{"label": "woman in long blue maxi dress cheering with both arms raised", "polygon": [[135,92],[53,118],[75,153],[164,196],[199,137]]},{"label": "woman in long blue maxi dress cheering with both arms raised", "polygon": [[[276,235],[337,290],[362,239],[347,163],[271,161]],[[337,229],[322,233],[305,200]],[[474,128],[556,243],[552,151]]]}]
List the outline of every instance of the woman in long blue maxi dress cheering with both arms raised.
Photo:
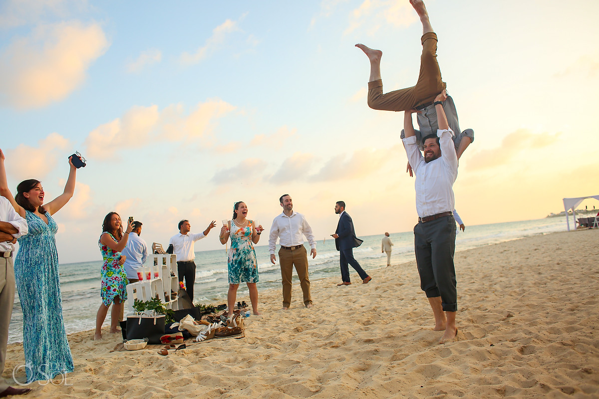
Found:
[{"label": "woman in long blue maxi dress cheering with both arms raised", "polygon": [[65,190],[44,203],[44,188],[35,179],[22,181],[17,195],[8,190],[4,154],[0,150],[0,193],[27,220],[29,234],[19,238],[14,275],[23,309],[23,349],[27,382],[49,380],[73,371],[71,349],[62,321],[62,300],[55,234],[58,226],[52,215],[71,199],[77,169],[69,157]]}]

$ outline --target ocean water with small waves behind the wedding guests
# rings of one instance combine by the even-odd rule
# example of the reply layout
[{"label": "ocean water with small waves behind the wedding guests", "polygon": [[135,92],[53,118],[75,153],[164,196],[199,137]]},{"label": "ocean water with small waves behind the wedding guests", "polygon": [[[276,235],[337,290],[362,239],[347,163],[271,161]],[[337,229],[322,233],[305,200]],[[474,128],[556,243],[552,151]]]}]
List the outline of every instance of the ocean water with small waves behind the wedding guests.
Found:
[{"label": "ocean water with small waves behind the wedding guests", "polygon": [[[476,248],[479,246],[520,239],[536,234],[562,232],[566,230],[565,217],[544,218],[540,220],[516,221],[497,224],[483,224],[467,226],[465,232],[456,236],[456,251]],[[362,268],[368,270],[384,267],[386,254],[380,252],[382,235],[361,236],[364,243],[355,248],[353,254]],[[394,243],[391,255],[392,265],[405,263],[415,259],[413,248],[413,233],[393,233],[391,240]],[[307,243],[304,244],[307,248]],[[337,277],[341,281],[339,271],[339,252],[335,250],[334,239],[318,241],[316,244],[317,256],[315,259],[308,257],[311,284],[318,285],[319,280]],[[278,251],[278,246],[277,246]],[[308,251],[309,252],[309,251]],[[221,304],[226,303],[228,290],[227,254],[225,247],[215,251],[195,252],[196,279],[195,300],[197,303]],[[278,255],[277,255],[278,256]],[[281,275],[279,264],[270,263],[268,245],[256,246],[258,258],[258,271],[260,281],[258,293],[271,288],[280,290]],[[152,257],[148,258],[148,262]],[[100,269],[101,261],[60,264],[60,290],[62,291],[62,310],[67,333],[91,330],[95,328],[95,317],[100,306]],[[391,266],[393,267],[393,266]],[[459,264],[456,265],[459,268]],[[374,274],[376,276],[376,273]],[[359,279],[357,273],[350,267],[350,276],[353,281]],[[297,275],[294,272],[294,285]],[[294,288],[295,290],[295,288]],[[237,292],[238,300],[249,303],[247,287],[241,284]],[[319,301],[319,298],[314,298]],[[300,306],[301,297],[296,295],[292,299],[292,306]],[[278,304],[277,304],[278,306]],[[110,314],[105,325],[108,324]],[[23,334],[23,313],[19,297],[15,297],[13,316],[11,318],[8,342],[21,342]]]}]

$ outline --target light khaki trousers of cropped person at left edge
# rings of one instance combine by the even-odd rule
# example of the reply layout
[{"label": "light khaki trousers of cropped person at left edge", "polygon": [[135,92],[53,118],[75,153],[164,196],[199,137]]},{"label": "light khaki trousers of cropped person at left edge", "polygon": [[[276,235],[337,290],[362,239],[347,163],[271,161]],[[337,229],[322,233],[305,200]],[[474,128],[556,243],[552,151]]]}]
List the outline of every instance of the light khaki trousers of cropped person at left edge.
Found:
[{"label": "light khaki trousers of cropped person at left edge", "polygon": [[13,314],[14,303],[14,268],[13,258],[0,258],[0,392],[8,388],[2,378],[6,363],[6,346],[8,343],[8,325]]}]

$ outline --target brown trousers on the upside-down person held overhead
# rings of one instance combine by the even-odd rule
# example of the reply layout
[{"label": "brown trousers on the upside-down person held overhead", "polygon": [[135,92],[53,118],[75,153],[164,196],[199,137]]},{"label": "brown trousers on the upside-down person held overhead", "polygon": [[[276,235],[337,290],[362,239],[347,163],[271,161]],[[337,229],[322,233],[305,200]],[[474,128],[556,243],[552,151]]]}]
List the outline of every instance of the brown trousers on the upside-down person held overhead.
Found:
[{"label": "brown trousers on the upside-down person held overhead", "polygon": [[422,35],[420,73],[416,86],[383,94],[383,81],[368,82],[368,106],[383,111],[406,111],[418,105],[432,102],[445,89],[437,63],[437,35]]}]

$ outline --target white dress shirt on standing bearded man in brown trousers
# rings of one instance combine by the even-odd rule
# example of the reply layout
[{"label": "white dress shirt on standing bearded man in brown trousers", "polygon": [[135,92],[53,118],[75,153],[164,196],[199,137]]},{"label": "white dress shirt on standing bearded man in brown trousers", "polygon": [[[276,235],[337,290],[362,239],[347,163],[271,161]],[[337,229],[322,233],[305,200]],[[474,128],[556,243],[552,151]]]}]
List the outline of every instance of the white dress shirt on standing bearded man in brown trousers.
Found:
[{"label": "white dress shirt on standing bearded man in brown trousers", "polygon": [[312,234],[312,229],[305,220],[304,215],[293,212],[291,216],[285,215],[285,212],[274,218],[273,226],[270,228],[268,236],[268,249],[270,254],[274,254],[279,237],[279,244],[282,246],[296,246],[304,243],[304,237],[308,240],[310,248],[316,249],[316,239]]}]

